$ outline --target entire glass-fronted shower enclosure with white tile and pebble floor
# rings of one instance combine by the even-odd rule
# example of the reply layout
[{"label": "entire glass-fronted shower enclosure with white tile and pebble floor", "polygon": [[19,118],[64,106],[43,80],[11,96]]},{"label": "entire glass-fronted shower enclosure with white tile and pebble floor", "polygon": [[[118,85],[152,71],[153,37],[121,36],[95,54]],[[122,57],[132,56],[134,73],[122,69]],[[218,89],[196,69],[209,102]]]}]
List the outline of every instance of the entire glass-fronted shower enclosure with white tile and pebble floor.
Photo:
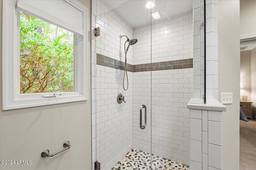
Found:
[{"label": "entire glass-fronted shower enclosure with white tile and pebble floor", "polygon": [[93,169],[96,161],[101,170],[188,169],[193,1],[92,0],[92,30],[96,27]]}]

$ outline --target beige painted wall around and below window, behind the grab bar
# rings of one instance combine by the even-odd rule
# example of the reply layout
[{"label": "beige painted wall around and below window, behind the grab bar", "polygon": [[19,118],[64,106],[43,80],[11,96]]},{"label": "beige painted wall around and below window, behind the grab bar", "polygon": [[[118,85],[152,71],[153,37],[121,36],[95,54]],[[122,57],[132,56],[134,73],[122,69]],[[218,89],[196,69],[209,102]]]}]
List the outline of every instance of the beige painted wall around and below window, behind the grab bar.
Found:
[{"label": "beige painted wall around and below window, behind the grab bar", "polygon": [[[88,8],[90,1],[80,0]],[[2,25],[2,1],[0,1]],[[90,23],[90,22],[89,22]],[[88,25],[90,29],[90,25]],[[2,26],[1,26],[2,35]],[[90,31],[89,40],[90,43]],[[1,45],[2,48],[2,36]],[[90,49],[90,48],[89,48]],[[2,50],[0,65],[2,66]],[[90,63],[90,57],[88,59]],[[90,70],[90,65],[88,65]],[[1,67],[2,68],[2,67]],[[2,75],[2,69],[0,70]],[[90,73],[88,75],[90,77]],[[90,89],[90,78],[88,79]],[[2,78],[0,80],[2,91]],[[90,96],[90,91],[89,94]],[[24,109],[2,110],[0,93],[0,158],[1,160],[32,160],[30,165],[0,165],[1,170],[70,170],[91,168],[91,100]],[[52,158],[41,158],[43,150],[50,153],[63,149],[65,141],[71,148]]]}]

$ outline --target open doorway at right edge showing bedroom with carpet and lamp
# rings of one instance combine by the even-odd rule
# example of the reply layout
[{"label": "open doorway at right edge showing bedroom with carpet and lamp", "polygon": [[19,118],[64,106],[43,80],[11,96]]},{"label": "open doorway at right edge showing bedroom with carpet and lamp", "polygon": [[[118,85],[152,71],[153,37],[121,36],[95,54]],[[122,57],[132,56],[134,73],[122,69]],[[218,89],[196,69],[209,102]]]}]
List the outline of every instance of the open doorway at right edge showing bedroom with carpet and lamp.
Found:
[{"label": "open doorway at right edge showing bedroom with carpet and lamp", "polygon": [[256,1],[240,0],[240,170],[256,169]]}]

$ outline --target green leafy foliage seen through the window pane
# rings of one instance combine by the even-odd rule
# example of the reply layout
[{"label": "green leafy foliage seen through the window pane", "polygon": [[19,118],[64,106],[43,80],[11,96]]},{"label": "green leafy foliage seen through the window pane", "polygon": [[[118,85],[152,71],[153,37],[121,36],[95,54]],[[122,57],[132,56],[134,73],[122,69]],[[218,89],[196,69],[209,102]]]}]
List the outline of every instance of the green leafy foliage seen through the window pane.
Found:
[{"label": "green leafy foliage seen through the window pane", "polygon": [[74,91],[74,34],[20,12],[20,93]]}]

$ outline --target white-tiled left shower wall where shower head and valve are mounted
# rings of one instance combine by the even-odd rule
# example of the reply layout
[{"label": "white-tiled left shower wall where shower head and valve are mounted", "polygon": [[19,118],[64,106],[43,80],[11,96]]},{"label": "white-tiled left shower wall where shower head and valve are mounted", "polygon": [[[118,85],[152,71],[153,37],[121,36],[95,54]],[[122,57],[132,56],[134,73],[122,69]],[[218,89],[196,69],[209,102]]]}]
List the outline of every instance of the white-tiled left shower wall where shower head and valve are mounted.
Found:
[{"label": "white-tiled left shower wall where shower head and valve are mounted", "polygon": [[[94,36],[100,27],[100,36]],[[124,42],[119,35],[133,36],[133,28],[99,0],[92,0],[92,162],[98,160],[101,170],[110,170],[132,148],[132,73],[129,88],[124,91],[124,71],[96,64],[96,53],[124,62]],[[127,54],[132,64],[133,47]],[[126,104],[118,104],[119,93]],[[92,165],[94,169],[94,164]]]}]

